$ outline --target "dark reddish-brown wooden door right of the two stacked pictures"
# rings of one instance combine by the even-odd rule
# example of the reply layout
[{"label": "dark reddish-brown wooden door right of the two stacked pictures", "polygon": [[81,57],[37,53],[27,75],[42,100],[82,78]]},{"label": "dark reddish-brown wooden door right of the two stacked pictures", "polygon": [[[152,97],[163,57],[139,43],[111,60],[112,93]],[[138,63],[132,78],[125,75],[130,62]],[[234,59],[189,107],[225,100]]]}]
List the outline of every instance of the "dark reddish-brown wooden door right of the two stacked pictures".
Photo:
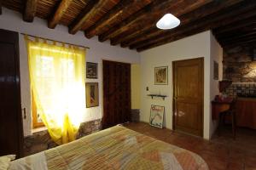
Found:
[{"label": "dark reddish-brown wooden door right of the two stacked pictures", "polygon": [[103,60],[102,127],[130,121],[131,65]]}]

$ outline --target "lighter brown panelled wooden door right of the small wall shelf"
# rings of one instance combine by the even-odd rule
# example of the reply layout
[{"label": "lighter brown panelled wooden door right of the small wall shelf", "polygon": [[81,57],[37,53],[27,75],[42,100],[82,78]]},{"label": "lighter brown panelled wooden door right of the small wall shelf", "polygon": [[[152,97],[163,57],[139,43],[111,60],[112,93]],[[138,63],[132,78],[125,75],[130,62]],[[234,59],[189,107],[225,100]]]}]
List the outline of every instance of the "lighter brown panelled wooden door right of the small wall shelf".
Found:
[{"label": "lighter brown panelled wooden door right of the small wall shelf", "polygon": [[173,62],[174,129],[203,134],[203,58]]}]

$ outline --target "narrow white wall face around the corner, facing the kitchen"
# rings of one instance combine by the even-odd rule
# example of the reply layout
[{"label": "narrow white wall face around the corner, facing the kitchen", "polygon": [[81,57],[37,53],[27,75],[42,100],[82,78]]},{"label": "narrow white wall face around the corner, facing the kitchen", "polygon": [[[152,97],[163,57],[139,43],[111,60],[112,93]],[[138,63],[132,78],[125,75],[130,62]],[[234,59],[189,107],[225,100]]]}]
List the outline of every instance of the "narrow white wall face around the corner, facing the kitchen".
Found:
[{"label": "narrow white wall face around the corner, facing the kitchen", "polygon": [[[216,38],[212,35],[212,32],[210,34],[211,38],[211,83],[210,83],[210,96],[211,96],[211,101],[214,99],[215,95],[219,94],[218,91],[218,80],[222,80],[223,77],[223,48],[219,45],[217,42]],[[218,62],[218,80],[214,80],[213,78],[213,63],[214,61]],[[212,115],[212,110],[211,114]],[[212,133],[214,133],[218,123],[216,121],[212,121],[212,117],[210,117],[210,136],[212,136]]]}]

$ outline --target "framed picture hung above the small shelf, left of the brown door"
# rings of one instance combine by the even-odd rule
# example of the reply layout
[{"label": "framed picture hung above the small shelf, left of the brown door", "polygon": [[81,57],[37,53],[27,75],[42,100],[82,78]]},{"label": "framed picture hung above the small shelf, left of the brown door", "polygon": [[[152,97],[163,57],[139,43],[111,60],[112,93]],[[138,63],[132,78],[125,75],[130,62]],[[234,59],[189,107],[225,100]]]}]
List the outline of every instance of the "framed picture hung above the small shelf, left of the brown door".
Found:
[{"label": "framed picture hung above the small shelf, left of the brown door", "polygon": [[155,85],[168,84],[168,66],[154,67],[154,84]]}]

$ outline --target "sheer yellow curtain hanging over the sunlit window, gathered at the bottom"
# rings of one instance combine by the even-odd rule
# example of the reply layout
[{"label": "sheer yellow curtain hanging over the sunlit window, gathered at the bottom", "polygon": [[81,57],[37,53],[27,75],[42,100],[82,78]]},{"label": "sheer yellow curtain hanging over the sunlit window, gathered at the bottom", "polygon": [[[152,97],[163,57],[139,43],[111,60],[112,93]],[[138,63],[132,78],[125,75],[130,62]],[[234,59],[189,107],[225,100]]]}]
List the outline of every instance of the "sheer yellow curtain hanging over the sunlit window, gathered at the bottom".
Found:
[{"label": "sheer yellow curtain hanging over the sunlit window, gathered at the bottom", "polygon": [[25,39],[37,111],[55,143],[73,141],[85,111],[85,50]]}]

